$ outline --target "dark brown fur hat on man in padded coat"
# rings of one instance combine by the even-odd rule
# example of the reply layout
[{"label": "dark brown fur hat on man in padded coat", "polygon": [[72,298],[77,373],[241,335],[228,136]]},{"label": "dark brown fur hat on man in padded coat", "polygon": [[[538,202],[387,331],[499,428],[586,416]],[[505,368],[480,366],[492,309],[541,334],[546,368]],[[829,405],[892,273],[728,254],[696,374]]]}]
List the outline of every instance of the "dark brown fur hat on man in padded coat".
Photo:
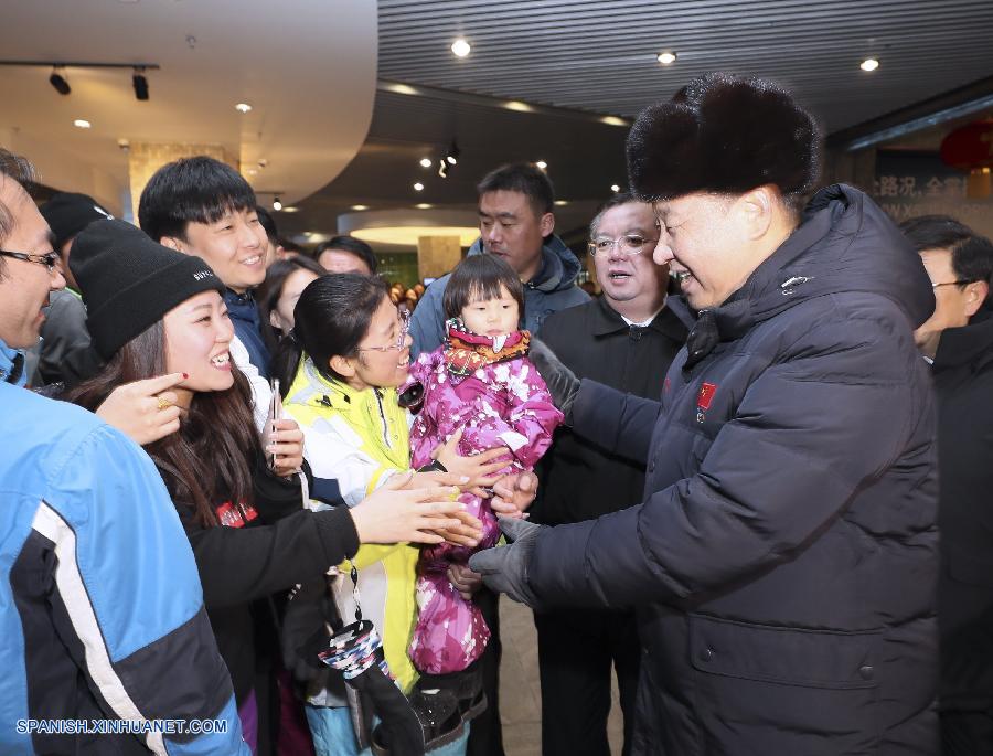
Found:
[{"label": "dark brown fur hat on man in padded coat", "polygon": [[649,202],[762,184],[799,198],[813,189],[819,161],[810,114],[781,87],[750,76],[695,78],[644,109],[628,135],[630,185]]}]

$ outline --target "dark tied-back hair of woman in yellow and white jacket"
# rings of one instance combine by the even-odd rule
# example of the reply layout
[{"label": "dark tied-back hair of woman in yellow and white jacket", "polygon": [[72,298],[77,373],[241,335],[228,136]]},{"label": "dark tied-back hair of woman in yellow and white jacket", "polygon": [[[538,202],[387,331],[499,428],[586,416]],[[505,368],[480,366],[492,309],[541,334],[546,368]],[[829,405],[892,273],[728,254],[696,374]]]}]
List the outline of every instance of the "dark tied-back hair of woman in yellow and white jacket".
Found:
[{"label": "dark tied-back hair of woman in yellow and white jacket", "polygon": [[355,356],[376,308],[389,299],[377,276],[342,273],[310,281],[293,308],[293,332],[279,342],[271,374],[286,397],[306,353],[329,381],[345,379],[331,370],[332,356]]}]

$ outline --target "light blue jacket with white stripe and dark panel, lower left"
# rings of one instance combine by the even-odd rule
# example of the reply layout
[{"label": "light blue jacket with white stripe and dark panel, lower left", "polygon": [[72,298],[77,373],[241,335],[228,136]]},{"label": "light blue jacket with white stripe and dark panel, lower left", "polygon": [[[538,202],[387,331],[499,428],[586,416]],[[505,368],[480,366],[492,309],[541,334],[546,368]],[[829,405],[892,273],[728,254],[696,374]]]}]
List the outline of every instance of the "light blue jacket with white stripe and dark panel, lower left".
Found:
[{"label": "light blue jacket with white stripe and dark panel, lower left", "polygon": [[[0,752],[33,753],[31,735],[7,725],[33,716],[30,706],[55,694],[46,690],[44,679],[52,659],[32,656],[52,645],[41,646],[21,629],[33,626],[50,628],[62,640],[108,720],[181,720],[178,726],[183,730],[191,720],[220,720],[207,724],[222,732],[163,733],[151,727],[136,735],[152,753],[247,756],[193,553],[153,464],[89,413],[13,391],[21,395],[14,402],[33,408],[25,414],[33,416],[34,426],[17,443],[9,439],[0,452],[0,524],[8,521],[9,526],[0,539],[7,562],[2,572],[14,586],[14,599],[18,585],[30,585],[19,582],[19,574],[44,573],[51,619],[24,617],[25,611],[40,611],[25,600],[0,613],[4,646],[23,659],[0,681],[0,717],[6,723]],[[43,402],[47,405],[33,406]],[[10,408],[4,402],[0,407]],[[13,414],[15,422],[23,419],[17,417],[18,409]],[[73,416],[68,423],[66,414]],[[13,541],[8,539],[12,533],[18,535]],[[20,546],[8,550],[18,542]],[[9,551],[17,554],[12,566],[6,558]],[[0,588],[0,599],[2,593]]]}]

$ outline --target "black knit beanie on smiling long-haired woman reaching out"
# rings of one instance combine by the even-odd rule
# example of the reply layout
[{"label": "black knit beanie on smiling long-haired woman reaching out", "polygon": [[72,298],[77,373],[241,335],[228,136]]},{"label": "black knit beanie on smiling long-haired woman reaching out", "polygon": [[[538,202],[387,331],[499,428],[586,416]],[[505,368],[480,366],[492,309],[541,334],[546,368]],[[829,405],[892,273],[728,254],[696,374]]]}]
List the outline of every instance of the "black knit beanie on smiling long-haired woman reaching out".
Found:
[{"label": "black knit beanie on smiling long-haired woman reaching out", "polygon": [[190,297],[224,294],[200,257],[163,247],[125,221],[90,223],[73,244],[70,269],[83,294],[94,347],[105,360]]}]

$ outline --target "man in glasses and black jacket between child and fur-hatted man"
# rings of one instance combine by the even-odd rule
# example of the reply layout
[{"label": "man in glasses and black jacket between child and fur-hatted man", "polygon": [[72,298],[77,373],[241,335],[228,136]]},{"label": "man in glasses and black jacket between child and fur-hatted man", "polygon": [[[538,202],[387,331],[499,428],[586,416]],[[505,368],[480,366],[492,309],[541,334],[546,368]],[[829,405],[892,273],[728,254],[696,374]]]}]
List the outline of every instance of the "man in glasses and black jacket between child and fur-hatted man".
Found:
[{"label": "man in glasses and black jacket between child and fur-hatted man", "polygon": [[[686,327],[665,306],[668,266],[651,254],[659,239],[652,205],[617,194],[589,227],[589,254],[604,296],[548,317],[541,338],[579,377],[655,398]],[[644,465],[559,428],[538,468],[531,519],[547,525],[591,520],[641,501]],[[641,649],[634,613],[536,613],[542,680],[542,754],[609,756],[610,668],[631,744]],[[563,726],[570,722],[569,726]]]}]

